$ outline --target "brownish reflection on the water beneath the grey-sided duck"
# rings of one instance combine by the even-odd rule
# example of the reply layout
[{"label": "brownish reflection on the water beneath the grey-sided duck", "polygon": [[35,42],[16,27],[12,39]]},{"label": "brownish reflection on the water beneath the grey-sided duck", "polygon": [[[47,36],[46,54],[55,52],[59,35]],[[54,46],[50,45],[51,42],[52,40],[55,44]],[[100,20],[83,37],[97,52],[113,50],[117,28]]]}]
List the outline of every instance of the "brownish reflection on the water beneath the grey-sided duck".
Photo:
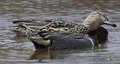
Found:
[{"label": "brownish reflection on the water beneath the grey-sided duck", "polygon": [[47,49],[39,49],[35,50],[34,53],[30,56],[29,60],[37,59],[39,62],[47,59],[64,59],[68,57],[70,54],[74,53],[82,53],[82,52],[104,52],[107,48],[106,45],[100,45],[100,47],[96,48],[87,48],[87,49],[65,49],[65,50],[50,50]]}]

